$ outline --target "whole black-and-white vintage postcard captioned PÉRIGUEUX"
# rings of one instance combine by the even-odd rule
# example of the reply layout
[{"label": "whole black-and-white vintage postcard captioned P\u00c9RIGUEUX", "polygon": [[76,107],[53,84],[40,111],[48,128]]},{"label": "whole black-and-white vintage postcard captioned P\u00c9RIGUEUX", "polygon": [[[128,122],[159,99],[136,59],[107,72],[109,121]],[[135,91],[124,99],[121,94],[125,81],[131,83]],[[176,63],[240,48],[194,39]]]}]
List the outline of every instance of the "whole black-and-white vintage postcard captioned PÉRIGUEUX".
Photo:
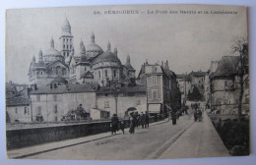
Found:
[{"label": "whole black-and-white vintage postcard captioned P\u00c9RIGUEUX", "polygon": [[247,8],[6,11],[11,159],[250,154]]}]

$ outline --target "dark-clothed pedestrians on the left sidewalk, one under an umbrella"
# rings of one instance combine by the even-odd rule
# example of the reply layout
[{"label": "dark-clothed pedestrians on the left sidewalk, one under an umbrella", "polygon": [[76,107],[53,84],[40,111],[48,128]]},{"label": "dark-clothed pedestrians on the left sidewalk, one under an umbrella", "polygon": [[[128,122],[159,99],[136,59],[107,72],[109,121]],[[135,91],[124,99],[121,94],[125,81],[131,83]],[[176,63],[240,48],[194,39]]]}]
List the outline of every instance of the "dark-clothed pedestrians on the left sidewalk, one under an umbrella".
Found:
[{"label": "dark-clothed pedestrians on the left sidewalk, one under an umbrella", "polygon": [[[138,112],[131,112],[129,115],[129,133],[134,134],[135,128],[139,129],[139,127],[142,127],[142,129],[149,128],[150,125],[150,117],[149,113],[146,112],[145,114],[142,112],[139,114]],[[116,135],[116,132],[118,130],[121,130],[124,134],[125,124],[123,120],[118,119],[116,114],[113,114],[111,118],[111,134]]]}]

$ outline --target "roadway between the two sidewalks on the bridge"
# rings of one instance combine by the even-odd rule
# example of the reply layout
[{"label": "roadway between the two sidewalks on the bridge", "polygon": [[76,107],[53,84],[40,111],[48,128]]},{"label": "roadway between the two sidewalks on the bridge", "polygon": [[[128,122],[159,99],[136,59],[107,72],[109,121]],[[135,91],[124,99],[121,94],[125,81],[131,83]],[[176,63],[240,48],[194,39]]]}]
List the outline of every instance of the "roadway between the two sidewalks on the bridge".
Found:
[{"label": "roadway between the two sidewalks on the bridge", "polygon": [[[36,154],[29,159],[83,159],[83,160],[127,160],[153,159],[160,157],[181,134],[193,125],[193,118],[182,116],[173,126],[170,122],[136,130],[131,135],[126,130],[109,138],[65,147]],[[109,133],[110,135],[110,133]]]}]

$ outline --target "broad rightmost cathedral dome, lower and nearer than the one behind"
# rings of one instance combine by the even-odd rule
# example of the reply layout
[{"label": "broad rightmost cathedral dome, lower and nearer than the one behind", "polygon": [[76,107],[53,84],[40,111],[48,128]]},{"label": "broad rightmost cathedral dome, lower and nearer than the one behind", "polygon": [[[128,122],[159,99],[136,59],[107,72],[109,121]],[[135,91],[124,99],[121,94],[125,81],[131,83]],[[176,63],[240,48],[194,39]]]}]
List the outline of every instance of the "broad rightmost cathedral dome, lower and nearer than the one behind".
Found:
[{"label": "broad rightmost cathedral dome, lower and nearer than the one behind", "polygon": [[121,65],[119,58],[110,51],[106,51],[100,54],[93,63],[97,64],[101,62],[115,62],[118,63],[118,65]]}]

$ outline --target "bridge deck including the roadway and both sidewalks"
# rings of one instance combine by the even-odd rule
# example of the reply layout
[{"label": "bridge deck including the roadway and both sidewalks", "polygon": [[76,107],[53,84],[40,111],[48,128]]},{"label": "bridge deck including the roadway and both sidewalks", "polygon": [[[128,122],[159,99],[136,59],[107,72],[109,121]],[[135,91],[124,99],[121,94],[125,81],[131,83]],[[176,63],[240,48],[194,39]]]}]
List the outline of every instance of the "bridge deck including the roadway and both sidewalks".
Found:
[{"label": "bridge deck including the roadway and both sidewalks", "polygon": [[85,160],[229,156],[206,113],[202,122],[194,122],[192,114],[183,115],[174,126],[165,119],[132,135],[125,129],[125,134],[119,131],[116,136],[102,133],[12,149],[7,154],[9,158]]}]

